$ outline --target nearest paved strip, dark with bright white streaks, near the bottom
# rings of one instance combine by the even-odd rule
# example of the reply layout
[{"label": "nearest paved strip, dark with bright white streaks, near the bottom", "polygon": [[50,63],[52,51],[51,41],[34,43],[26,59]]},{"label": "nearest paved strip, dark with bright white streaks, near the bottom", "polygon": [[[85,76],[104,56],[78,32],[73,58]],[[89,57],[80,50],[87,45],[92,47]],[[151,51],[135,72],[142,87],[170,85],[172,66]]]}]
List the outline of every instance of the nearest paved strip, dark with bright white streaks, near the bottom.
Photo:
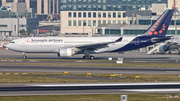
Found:
[{"label": "nearest paved strip, dark with bright white streaks, near the bottom", "polygon": [[179,93],[180,82],[90,84],[0,84],[0,96]]}]

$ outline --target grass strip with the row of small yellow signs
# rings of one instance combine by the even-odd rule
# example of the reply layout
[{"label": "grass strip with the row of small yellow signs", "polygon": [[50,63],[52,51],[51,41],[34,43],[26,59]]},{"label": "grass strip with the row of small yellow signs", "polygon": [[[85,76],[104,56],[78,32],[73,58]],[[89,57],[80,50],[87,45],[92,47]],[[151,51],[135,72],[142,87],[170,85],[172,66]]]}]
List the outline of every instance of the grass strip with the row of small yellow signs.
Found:
[{"label": "grass strip with the row of small yellow signs", "polygon": [[[79,78],[71,78],[78,76]],[[139,78],[135,78],[139,76]],[[89,79],[98,77],[96,79]],[[0,74],[0,83],[95,83],[95,82],[166,82],[180,81],[179,75],[161,75],[161,74],[115,74],[110,78],[110,74],[92,73],[91,77],[86,77],[85,73],[69,73],[63,76],[63,73],[14,73],[3,72]]]}]

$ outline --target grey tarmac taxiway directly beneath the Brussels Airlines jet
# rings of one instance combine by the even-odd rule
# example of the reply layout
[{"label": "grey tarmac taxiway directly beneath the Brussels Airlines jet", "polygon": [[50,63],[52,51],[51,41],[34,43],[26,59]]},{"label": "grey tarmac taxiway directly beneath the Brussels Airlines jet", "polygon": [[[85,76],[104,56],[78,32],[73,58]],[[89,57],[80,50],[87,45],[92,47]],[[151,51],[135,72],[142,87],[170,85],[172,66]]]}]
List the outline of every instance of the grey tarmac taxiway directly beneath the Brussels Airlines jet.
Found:
[{"label": "grey tarmac taxiway directly beneath the Brussels Airlines jet", "polygon": [[[109,57],[117,60],[117,58],[124,58],[124,60],[180,60],[180,56],[177,54],[157,54],[157,55],[147,55],[146,53],[139,52],[125,52],[125,54],[118,53],[102,53],[102,54],[93,54],[95,56],[95,60],[107,60]],[[53,53],[26,53],[28,59],[82,59],[83,54],[75,55],[67,58],[59,58],[57,54]],[[21,59],[22,53],[14,52],[11,50],[1,49],[0,50],[0,58],[13,58],[13,59]]]}]

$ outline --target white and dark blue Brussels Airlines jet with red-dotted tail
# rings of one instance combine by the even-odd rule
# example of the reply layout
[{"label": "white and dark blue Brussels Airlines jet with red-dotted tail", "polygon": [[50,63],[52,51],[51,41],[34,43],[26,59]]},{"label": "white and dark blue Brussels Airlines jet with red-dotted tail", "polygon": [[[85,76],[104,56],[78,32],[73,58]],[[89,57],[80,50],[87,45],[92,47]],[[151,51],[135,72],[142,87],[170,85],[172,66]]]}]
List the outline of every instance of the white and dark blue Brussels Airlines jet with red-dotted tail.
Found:
[{"label": "white and dark blue Brussels Airlines jet with red-dotted tail", "polygon": [[123,52],[146,47],[170,39],[166,37],[174,9],[166,10],[144,33],[135,37],[29,37],[11,41],[6,47],[25,53],[57,53],[59,57],[85,54]]}]

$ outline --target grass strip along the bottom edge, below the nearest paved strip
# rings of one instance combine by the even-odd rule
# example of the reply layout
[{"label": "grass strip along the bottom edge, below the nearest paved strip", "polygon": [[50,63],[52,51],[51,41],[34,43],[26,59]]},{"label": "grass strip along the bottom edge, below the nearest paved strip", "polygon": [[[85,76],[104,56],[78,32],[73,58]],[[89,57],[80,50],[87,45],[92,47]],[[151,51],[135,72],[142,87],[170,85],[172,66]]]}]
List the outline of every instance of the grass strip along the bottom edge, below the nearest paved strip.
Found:
[{"label": "grass strip along the bottom edge, below the nearest paved strip", "polygon": [[[123,95],[123,94],[122,94]],[[128,101],[179,101],[167,94],[126,94]],[[169,94],[169,96],[177,96]],[[120,94],[1,96],[0,101],[120,101]]]}]

